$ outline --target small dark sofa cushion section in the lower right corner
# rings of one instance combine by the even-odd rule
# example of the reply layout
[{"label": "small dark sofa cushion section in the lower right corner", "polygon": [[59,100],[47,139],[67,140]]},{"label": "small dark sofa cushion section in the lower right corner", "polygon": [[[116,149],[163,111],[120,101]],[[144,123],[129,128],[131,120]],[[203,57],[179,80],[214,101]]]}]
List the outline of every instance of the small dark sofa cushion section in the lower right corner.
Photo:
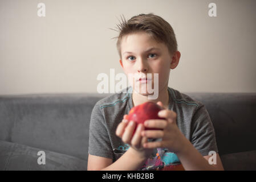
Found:
[{"label": "small dark sofa cushion section in the lower right corner", "polygon": [[256,150],[220,156],[225,170],[256,170]]}]

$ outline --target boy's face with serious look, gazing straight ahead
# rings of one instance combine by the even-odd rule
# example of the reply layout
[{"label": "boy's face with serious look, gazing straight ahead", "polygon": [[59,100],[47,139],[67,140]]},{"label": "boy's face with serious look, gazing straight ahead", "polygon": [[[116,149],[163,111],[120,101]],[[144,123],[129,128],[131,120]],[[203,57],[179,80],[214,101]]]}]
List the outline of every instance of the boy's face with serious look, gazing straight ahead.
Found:
[{"label": "boy's face with serious look, gazing straight ahead", "polygon": [[[155,89],[154,73],[159,73],[159,92],[167,88],[170,68],[172,68],[172,56],[164,43],[156,42],[155,39],[145,32],[136,32],[124,36],[120,46],[120,64],[127,76],[128,74],[136,75],[137,73],[140,78],[143,77],[143,73],[146,77],[147,73],[151,73],[152,85],[149,85],[149,87]],[[149,49],[151,50],[148,51]],[[137,93],[147,96],[149,94],[148,91],[142,93],[141,90],[147,90],[146,88],[149,82],[138,81],[139,78],[137,77],[133,81],[133,89],[135,89]]]}]

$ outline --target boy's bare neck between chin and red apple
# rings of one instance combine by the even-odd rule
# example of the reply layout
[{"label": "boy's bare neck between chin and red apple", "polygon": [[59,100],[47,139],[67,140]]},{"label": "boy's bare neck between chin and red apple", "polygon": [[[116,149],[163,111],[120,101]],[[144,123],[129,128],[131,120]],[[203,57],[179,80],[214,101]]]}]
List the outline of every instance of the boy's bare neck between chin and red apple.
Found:
[{"label": "boy's bare neck between chin and red apple", "polygon": [[169,106],[168,86],[166,86],[162,90],[159,90],[159,97],[156,100],[148,100],[148,96],[143,96],[143,95],[141,95],[139,93],[135,93],[135,92],[132,93],[132,104],[133,104],[133,106],[137,106],[137,105],[143,104],[144,102],[148,102],[148,101],[155,102],[155,103],[161,101],[162,104],[166,108],[168,108],[168,106]]}]

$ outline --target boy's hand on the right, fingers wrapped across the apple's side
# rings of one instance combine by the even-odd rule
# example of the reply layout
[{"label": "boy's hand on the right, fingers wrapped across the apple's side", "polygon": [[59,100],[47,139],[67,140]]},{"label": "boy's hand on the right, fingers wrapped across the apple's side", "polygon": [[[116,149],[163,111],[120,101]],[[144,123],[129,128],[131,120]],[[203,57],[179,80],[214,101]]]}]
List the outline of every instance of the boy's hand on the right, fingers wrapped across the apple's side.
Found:
[{"label": "boy's hand on the right, fingers wrapped across the apple's side", "polygon": [[[157,102],[157,104],[164,107],[161,102]],[[182,147],[184,147],[183,143],[185,143],[186,138],[176,124],[177,114],[164,107],[164,110],[159,111],[159,117],[166,119],[149,119],[144,122],[144,126],[160,130],[144,130],[141,135],[148,138],[162,138],[162,140],[144,143],[143,147],[166,147],[175,153],[183,150]]]}]

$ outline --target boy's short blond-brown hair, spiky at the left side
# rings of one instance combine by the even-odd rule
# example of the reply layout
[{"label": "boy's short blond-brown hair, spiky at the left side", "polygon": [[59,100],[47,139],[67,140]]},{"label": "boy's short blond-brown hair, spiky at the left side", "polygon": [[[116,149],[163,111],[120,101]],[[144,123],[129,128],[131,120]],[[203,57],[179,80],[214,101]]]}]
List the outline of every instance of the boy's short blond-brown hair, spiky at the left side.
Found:
[{"label": "boy's short blond-brown hair, spiky at the left side", "polygon": [[[119,20],[120,22],[120,20]],[[110,28],[111,30],[115,30]],[[121,17],[120,24],[117,24],[116,28],[119,32],[119,36],[115,37],[117,39],[117,51],[121,59],[121,39],[123,36],[134,33],[134,32],[146,32],[152,36],[157,42],[164,43],[169,50],[170,55],[177,51],[177,41],[174,34],[172,26],[166,20],[162,19],[160,16],[149,14],[139,14],[133,16],[128,21],[125,20],[124,15]]]}]

